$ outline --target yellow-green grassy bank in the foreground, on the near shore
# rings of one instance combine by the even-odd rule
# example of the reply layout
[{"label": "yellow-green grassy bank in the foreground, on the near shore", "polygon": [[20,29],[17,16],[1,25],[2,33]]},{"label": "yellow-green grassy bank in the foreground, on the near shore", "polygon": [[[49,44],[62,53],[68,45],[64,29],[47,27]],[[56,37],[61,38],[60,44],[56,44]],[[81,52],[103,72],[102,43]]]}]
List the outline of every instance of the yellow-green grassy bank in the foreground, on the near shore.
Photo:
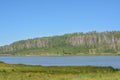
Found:
[{"label": "yellow-green grassy bank in the foreground, on the near shore", "polygon": [[0,80],[119,80],[120,70],[95,66],[30,66],[0,62]]}]

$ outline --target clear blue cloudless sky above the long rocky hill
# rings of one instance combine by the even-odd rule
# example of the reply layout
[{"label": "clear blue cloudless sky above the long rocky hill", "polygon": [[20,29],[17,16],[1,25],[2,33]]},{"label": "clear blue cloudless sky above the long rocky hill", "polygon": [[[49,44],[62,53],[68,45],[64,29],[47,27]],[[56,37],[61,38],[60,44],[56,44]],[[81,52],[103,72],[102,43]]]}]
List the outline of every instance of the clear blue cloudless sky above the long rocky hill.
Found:
[{"label": "clear blue cloudless sky above the long rocky hill", "polygon": [[0,0],[0,46],[95,30],[120,30],[120,0]]}]

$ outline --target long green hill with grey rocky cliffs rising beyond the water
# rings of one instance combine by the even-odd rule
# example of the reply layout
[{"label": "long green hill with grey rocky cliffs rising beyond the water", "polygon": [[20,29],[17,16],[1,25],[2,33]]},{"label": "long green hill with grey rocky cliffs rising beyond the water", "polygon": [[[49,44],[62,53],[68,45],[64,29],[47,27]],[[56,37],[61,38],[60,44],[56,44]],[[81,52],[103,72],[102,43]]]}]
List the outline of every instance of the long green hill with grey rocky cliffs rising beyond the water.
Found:
[{"label": "long green hill with grey rocky cliffs rising beyond the water", "polygon": [[42,37],[0,47],[1,55],[118,55],[120,31]]}]

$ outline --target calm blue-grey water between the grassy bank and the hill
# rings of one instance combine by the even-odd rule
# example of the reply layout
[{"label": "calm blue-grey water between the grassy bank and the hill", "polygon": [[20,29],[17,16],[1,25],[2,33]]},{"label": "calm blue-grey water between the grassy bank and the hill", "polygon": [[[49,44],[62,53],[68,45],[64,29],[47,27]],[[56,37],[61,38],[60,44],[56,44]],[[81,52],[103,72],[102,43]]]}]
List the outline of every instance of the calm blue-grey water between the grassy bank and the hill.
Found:
[{"label": "calm blue-grey water between the grassy bank and the hill", "polygon": [[0,57],[9,64],[29,64],[42,66],[112,66],[120,68],[120,56],[25,56]]}]

